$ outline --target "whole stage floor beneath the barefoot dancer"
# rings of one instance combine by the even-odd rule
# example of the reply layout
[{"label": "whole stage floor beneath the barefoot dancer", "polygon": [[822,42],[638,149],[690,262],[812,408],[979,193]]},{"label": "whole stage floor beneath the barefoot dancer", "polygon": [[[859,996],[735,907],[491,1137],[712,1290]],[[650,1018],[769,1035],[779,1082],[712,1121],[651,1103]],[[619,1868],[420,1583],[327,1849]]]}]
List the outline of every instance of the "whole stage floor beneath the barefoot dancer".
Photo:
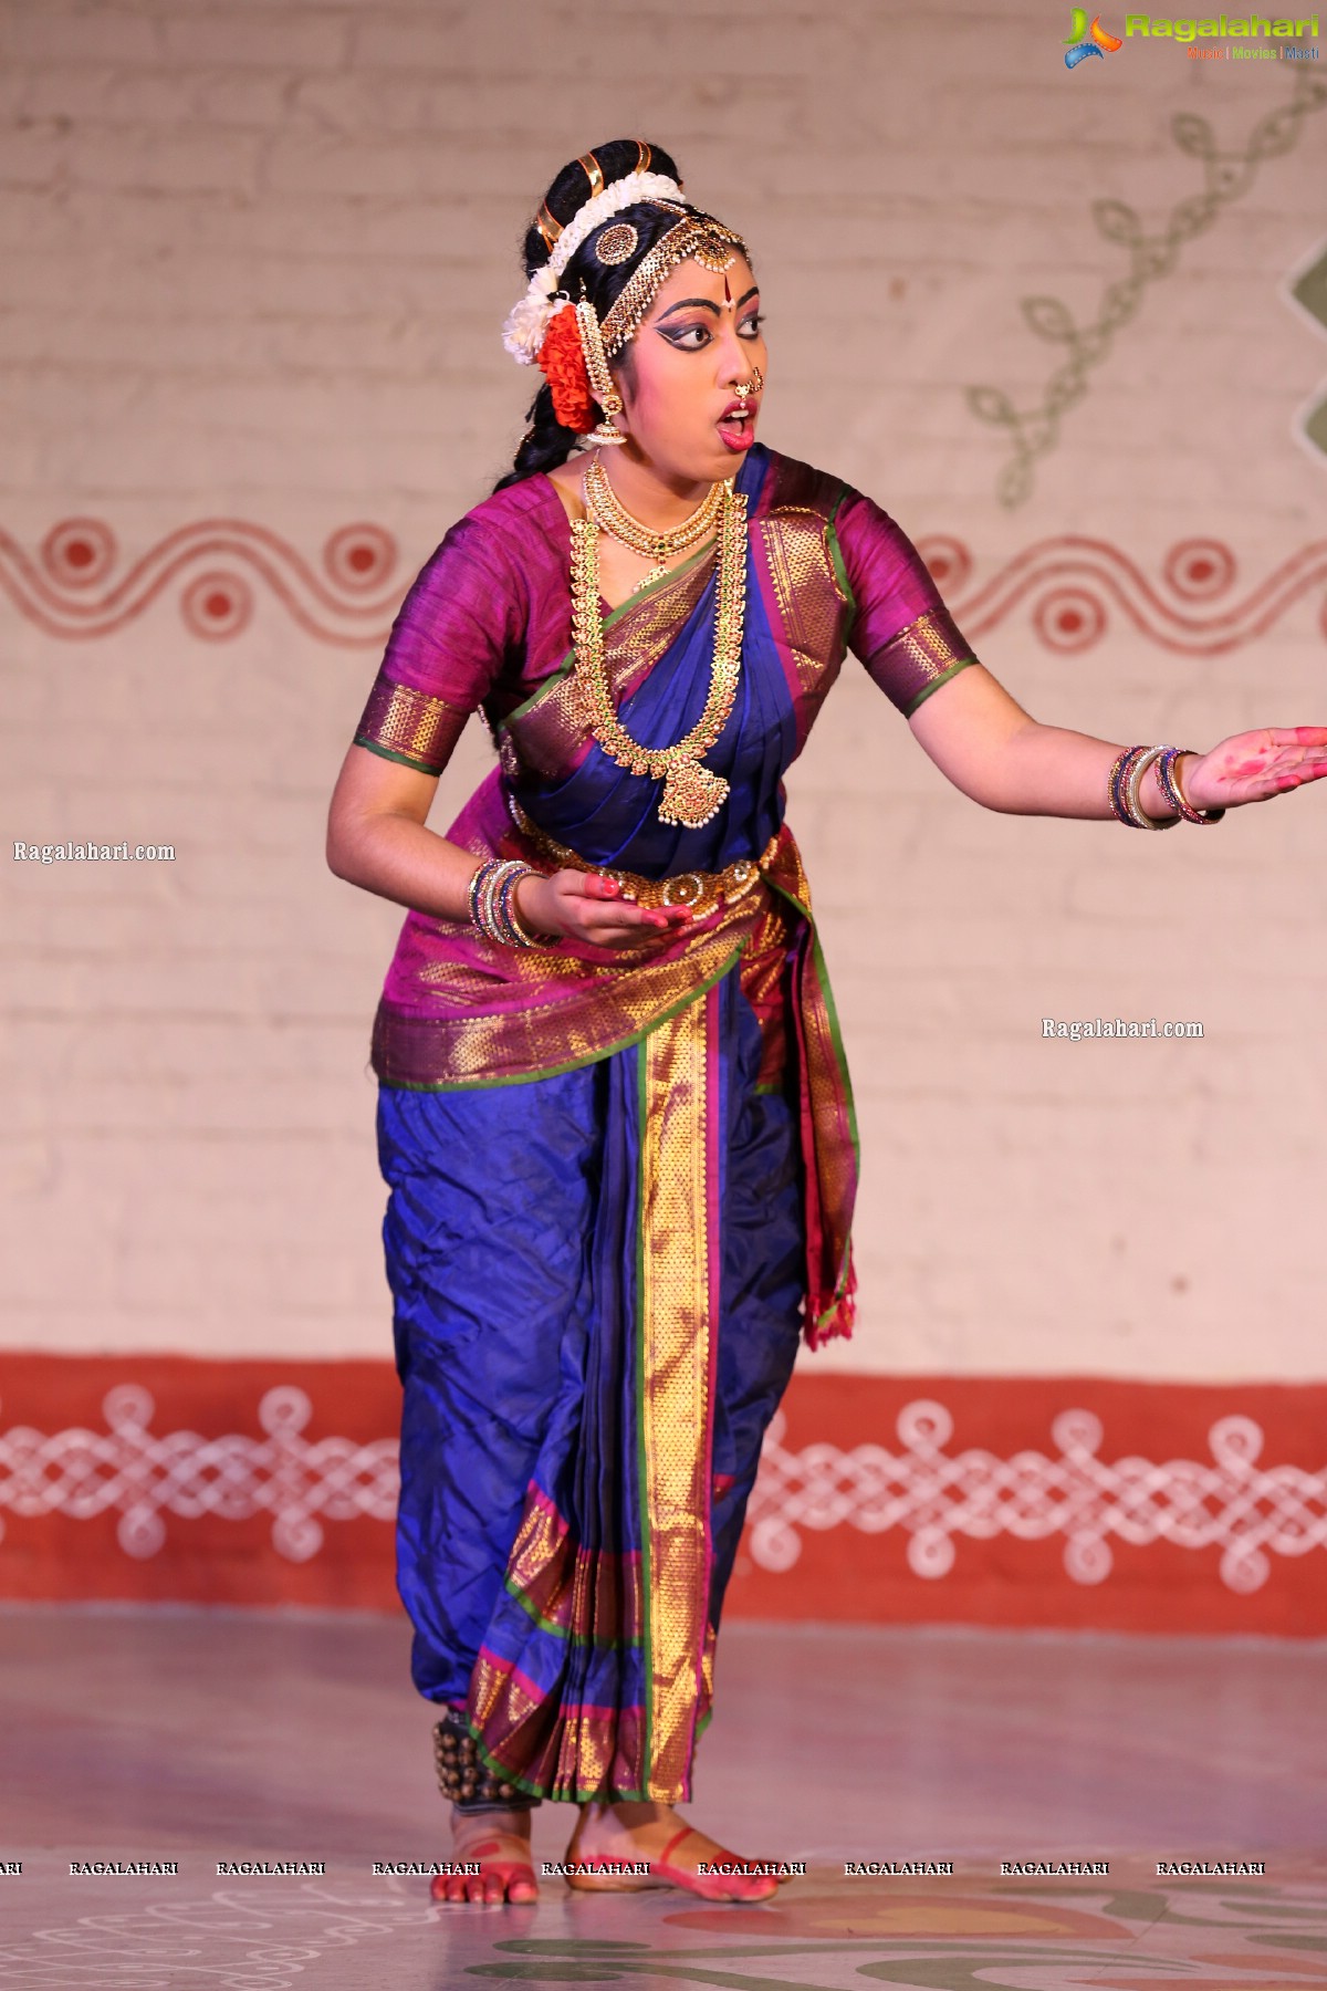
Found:
[{"label": "whole stage floor beneath the barefoot dancer", "polygon": [[[450,1852],[408,1649],[368,1615],[0,1607],[0,1987],[1327,1985],[1323,1643],[736,1621],[684,1812],[806,1862],[756,1907],[374,1874]],[[535,1814],[535,1864],[573,1824]],[[177,1874],[70,1874],[97,1860]]]}]

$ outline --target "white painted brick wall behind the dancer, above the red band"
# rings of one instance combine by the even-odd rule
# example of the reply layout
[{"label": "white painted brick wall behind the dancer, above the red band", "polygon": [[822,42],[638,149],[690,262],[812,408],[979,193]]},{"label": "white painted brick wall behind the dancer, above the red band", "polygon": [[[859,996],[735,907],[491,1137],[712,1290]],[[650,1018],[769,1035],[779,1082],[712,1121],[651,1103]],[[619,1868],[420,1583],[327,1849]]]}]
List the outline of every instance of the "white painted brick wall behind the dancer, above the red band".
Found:
[{"label": "white painted brick wall behind the dancer, above the red band", "polygon": [[[766,440],[913,538],[961,536],[977,583],[1066,532],[1152,579],[1216,536],[1243,595],[1327,518],[1327,462],[1289,436],[1327,340],[1279,291],[1327,225],[1327,110],[1146,291],[1005,512],[963,388],[1037,400],[1058,354],[1019,301],[1090,319],[1124,273],[1090,203],[1158,227],[1202,185],[1174,113],[1237,151],[1293,84],[1156,44],[1068,76],[1060,32],[993,4],[0,0],[0,532],[32,555],[103,518],[123,565],[241,518],[316,563],[374,520],[404,593],[521,432],[499,327],[535,199],[641,131],[752,235]],[[1321,599],[1226,657],[1120,615],[1056,657],[1027,607],[979,649],[1043,719],[1206,747],[1327,717]],[[217,645],[171,593],[92,643],[0,595],[0,665],[4,834],[179,852],[92,872],[6,850],[0,1338],[386,1354],[366,1055],[400,914],[322,866],[376,651],[263,589]],[[472,733],[440,828],[487,765]],[[865,1149],[861,1326],[816,1360],[1327,1374],[1327,796],[1212,838],[991,816],[852,663],[790,788]],[[1041,1043],[1043,1013],[1116,1011],[1208,1037]]]}]

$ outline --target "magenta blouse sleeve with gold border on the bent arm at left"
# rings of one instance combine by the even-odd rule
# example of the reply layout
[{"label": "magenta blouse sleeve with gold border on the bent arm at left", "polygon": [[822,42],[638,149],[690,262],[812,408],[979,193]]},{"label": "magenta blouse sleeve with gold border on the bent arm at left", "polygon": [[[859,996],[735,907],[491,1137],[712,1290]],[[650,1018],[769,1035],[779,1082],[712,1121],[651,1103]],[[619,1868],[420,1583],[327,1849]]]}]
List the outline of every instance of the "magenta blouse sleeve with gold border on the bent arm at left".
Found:
[{"label": "magenta blouse sleeve with gold border on the bent arm at left", "polygon": [[402,601],[354,743],[440,774],[525,633],[519,571],[499,534],[458,520]]}]

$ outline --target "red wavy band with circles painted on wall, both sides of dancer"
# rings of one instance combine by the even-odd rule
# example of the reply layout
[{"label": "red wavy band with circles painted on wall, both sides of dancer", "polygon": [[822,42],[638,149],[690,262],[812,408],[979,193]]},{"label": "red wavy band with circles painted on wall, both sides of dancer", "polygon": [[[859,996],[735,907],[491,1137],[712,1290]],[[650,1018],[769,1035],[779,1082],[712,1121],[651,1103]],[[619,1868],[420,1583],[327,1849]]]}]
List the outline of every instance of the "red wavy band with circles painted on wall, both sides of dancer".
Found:
[{"label": "red wavy band with circles painted on wall, both sides of dancer", "polygon": [[[1178,540],[1154,579],[1122,548],[1080,534],[1037,540],[981,583],[963,540],[929,534],[917,550],[973,641],[1025,617],[1062,655],[1118,629],[1176,653],[1218,655],[1257,641],[1305,597],[1327,637],[1327,540],[1307,542],[1245,587],[1233,552],[1210,538]],[[265,595],[322,643],[380,649],[404,593],[400,581],[388,585],[396,569],[396,540],[372,524],[340,526],[318,561],[245,520],[181,526],[131,561],[97,518],[62,520],[36,553],[0,532],[0,591],[66,641],[111,635],[165,597],[189,635],[221,643],[249,627]]]}]

